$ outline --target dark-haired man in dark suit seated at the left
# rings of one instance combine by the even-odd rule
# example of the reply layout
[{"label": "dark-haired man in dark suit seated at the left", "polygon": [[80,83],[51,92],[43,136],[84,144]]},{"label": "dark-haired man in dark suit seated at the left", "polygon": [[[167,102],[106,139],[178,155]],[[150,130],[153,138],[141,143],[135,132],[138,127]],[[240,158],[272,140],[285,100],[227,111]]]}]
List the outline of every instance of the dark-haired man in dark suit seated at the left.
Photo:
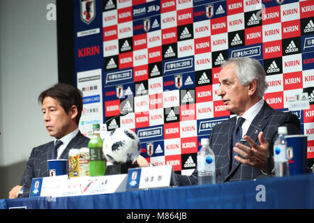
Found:
[{"label": "dark-haired man in dark suit seated at the left", "polygon": [[[40,93],[38,101],[43,105],[46,129],[55,139],[33,148],[20,185],[9,192],[10,199],[29,197],[31,180],[49,176],[47,160],[68,159],[71,148],[87,147],[89,143],[89,138],[84,137],[78,129],[83,108],[82,92],[79,89],[68,84],[55,84]],[[60,141],[59,148],[54,150],[56,141]]]}]

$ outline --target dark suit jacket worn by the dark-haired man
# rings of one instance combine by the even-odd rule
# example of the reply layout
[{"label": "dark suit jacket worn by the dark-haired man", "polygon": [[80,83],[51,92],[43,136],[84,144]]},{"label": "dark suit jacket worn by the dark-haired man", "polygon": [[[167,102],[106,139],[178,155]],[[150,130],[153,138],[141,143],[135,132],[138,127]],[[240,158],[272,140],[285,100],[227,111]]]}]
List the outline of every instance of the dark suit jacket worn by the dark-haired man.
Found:
[{"label": "dark suit jacket worn by the dark-haired man", "polygon": [[[68,159],[68,151],[71,148],[88,147],[88,144],[89,138],[84,137],[81,132],[78,132],[77,135],[69,142],[68,146],[66,146],[60,156],[60,159]],[[47,144],[33,148],[31,151],[31,156],[29,157],[29,161],[27,161],[27,167],[20,183],[20,185],[25,185],[23,197],[29,197],[31,180],[33,178],[49,176],[47,160],[51,159],[53,147],[54,141],[50,141]]]}]

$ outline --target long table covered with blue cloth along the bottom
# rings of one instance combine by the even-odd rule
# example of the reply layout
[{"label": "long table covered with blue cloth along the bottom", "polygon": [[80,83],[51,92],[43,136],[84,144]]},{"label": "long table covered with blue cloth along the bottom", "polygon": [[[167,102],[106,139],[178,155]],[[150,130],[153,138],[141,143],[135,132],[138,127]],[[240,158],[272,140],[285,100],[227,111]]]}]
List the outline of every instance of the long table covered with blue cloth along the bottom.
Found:
[{"label": "long table covered with blue cloth along the bottom", "polygon": [[0,208],[314,208],[314,174],[77,197],[1,199]]}]

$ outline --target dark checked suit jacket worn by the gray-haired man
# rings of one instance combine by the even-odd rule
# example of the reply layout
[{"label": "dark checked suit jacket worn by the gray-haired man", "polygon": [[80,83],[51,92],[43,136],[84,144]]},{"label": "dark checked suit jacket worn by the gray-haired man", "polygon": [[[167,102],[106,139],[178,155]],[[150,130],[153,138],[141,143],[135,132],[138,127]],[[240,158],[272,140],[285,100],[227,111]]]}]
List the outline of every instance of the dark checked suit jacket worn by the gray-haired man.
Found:
[{"label": "dark checked suit jacket worn by the gray-haired man", "polygon": [[[232,155],[232,132],[235,127],[237,117],[234,116],[223,123],[216,125],[209,138],[209,146],[214,151],[216,162],[216,182],[223,183],[227,181],[248,180],[262,175],[260,169],[255,169],[237,160],[230,169],[230,160]],[[274,141],[277,134],[277,128],[280,125],[287,126],[288,134],[301,134],[299,118],[290,112],[281,112],[272,109],[267,102],[264,102],[262,109],[253,119],[246,134],[260,145],[258,134],[264,132],[264,138],[269,142],[269,149],[273,151]],[[245,143],[249,146],[247,143]],[[181,176],[177,174],[179,185],[197,184],[197,169],[191,176]]]}]

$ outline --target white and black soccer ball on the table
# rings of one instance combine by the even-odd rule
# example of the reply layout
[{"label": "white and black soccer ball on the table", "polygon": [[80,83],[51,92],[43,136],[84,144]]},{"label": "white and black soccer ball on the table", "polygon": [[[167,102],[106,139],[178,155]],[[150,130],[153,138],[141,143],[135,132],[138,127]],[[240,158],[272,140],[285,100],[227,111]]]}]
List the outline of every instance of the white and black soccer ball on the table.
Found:
[{"label": "white and black soccer ball on the table", "polygon": [[103,139],[103,154],[112,164],[131,164],[140,155],[140,151],[140,139],[126,128],[112,130]]}]

